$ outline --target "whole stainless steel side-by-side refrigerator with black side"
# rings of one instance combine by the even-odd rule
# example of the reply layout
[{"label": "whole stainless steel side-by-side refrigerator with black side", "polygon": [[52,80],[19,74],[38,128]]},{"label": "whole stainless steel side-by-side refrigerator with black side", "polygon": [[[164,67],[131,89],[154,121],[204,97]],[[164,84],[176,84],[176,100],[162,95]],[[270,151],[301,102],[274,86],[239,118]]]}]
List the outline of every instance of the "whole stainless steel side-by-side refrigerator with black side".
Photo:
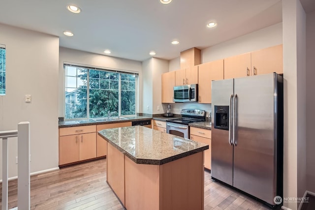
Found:
[{"label": "whole stainless steel side-by-side refrigerator with black side", "polygon": [[211,176],[275,206],[283,182],[283,77],[212,81]]}]

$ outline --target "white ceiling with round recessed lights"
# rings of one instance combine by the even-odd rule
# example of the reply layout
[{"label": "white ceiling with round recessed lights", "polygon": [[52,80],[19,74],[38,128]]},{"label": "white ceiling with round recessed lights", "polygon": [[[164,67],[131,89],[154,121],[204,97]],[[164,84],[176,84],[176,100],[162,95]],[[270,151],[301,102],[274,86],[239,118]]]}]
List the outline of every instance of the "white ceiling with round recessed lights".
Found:
[{"label": "white ceiling with round recessed lights", "polygon": [[[281,0],[1,0],[0,7],[0,23],[59,36],[62,47],[139,61],[150,51],[171,60],[282,22]],[[218,25],[207,28],[209,21]]]}]

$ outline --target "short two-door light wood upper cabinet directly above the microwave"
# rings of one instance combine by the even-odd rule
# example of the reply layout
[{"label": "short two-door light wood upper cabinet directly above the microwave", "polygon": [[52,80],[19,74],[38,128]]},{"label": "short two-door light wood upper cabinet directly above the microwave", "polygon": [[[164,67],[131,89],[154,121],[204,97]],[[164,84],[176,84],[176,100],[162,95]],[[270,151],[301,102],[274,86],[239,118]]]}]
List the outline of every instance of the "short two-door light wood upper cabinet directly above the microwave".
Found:
[{"label": "short two-door light wood upper cabinet directly above the microwave", "polygon": [[198,66],[175,71],[175,86],[198,84]]}]

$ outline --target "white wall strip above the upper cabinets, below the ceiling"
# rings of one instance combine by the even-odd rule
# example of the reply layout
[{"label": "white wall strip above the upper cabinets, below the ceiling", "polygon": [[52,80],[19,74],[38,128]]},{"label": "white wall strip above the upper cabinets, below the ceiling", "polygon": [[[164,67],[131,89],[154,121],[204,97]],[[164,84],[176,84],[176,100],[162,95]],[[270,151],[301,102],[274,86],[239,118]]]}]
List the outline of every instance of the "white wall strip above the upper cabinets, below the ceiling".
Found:
[{"label": "white wall strip above the upper cabinets, below the ceiling", "polygon": [[[282,23],[254,31],[201,50],[201,63],[224,59],[282,44]],[[180,59],[170,60],[169,71],[180,69]]]}]

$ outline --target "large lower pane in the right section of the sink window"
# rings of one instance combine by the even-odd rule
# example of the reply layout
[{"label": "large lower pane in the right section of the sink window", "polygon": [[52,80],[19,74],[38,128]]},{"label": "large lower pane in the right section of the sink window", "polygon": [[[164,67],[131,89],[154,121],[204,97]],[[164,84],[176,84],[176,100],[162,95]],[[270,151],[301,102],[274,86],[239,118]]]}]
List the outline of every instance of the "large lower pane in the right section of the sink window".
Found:
[{"label": "large lower pane in the right section of the sink window", "polygon": [[122,90],[122,115],[136,114],[135,91]]}]

